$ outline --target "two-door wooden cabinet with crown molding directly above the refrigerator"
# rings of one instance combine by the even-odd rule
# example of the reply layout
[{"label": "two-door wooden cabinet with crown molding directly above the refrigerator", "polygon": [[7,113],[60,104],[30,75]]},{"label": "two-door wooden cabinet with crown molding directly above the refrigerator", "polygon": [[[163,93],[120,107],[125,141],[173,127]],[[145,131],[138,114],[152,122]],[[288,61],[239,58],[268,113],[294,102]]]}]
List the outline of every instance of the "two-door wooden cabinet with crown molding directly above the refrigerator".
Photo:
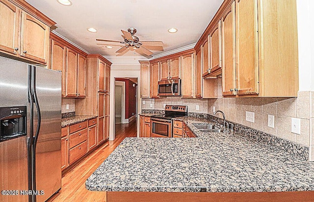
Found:
[{"label": "two-door wooden cabinet with crown molding directly above the refrigerator", "polygon": [[0,52],[47,65],[50,26],[55,23],[26,1],[0,0],[0,11]]}]

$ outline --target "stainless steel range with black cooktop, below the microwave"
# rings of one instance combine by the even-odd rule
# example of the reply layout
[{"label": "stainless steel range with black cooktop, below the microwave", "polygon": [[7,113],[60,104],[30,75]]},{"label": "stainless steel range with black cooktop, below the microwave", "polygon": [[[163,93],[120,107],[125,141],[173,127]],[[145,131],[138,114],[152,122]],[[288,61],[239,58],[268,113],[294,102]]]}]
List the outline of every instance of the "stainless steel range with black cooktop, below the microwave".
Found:
[{"label": "stainless steel range with black cooktop, below the microwave", "polygon": [[165,113],[151,118],[151,137],[172,137],[172,118],[187,116],[187,106],[166,105]]}]

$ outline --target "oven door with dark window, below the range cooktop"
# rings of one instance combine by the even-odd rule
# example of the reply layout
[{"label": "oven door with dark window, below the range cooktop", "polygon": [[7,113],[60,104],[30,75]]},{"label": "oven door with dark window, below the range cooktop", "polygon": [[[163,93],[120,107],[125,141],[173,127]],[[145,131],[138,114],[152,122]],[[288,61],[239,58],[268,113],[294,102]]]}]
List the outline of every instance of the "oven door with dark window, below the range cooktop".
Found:
[{"label": "oven door with dark window, below the range cooktop", "polygon": [[171,137],[172,120],[152,118],[151,128],[151,137]]}]

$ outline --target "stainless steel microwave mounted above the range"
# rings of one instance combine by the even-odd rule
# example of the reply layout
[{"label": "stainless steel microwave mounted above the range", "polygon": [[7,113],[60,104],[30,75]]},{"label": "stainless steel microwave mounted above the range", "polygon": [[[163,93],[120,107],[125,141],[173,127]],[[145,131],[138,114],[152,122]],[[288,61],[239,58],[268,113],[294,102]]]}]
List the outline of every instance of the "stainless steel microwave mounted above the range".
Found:
[{"label": "stainless steel microwave mounted above the range", "polygon": [[159,96],[181,96],[181,79],[158,81]]}]

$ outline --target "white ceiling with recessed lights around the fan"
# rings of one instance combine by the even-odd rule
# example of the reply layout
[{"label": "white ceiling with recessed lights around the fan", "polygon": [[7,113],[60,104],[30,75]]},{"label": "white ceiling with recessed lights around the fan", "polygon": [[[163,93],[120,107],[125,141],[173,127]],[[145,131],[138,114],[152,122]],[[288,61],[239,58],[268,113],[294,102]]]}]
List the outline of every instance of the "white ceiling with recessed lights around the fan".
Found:
[{"label": "white ceiling with recessed lights around the fan", "polygon": [[[89,53],[117,55],[122,44],[96,42],[96,39],[122,41],[121,29],[137,29],[140,41],[163,41],[164,51],[194,44],[201,37],[223,0],[71,0],[63,6],[56,0],[26,0],[56,22],[58,34]],[[97,33],[87,31],[94,27]],[[175,34],[168,33],[178,28]],[[97,44],[113,45],[113,49]],[[152,50],[153,51],[153,50]],[[162,51],[153,51],[153,55]],[[134,54],[135,53],[135,54]],[[139,55],[129,51],[124,55]]]}]

